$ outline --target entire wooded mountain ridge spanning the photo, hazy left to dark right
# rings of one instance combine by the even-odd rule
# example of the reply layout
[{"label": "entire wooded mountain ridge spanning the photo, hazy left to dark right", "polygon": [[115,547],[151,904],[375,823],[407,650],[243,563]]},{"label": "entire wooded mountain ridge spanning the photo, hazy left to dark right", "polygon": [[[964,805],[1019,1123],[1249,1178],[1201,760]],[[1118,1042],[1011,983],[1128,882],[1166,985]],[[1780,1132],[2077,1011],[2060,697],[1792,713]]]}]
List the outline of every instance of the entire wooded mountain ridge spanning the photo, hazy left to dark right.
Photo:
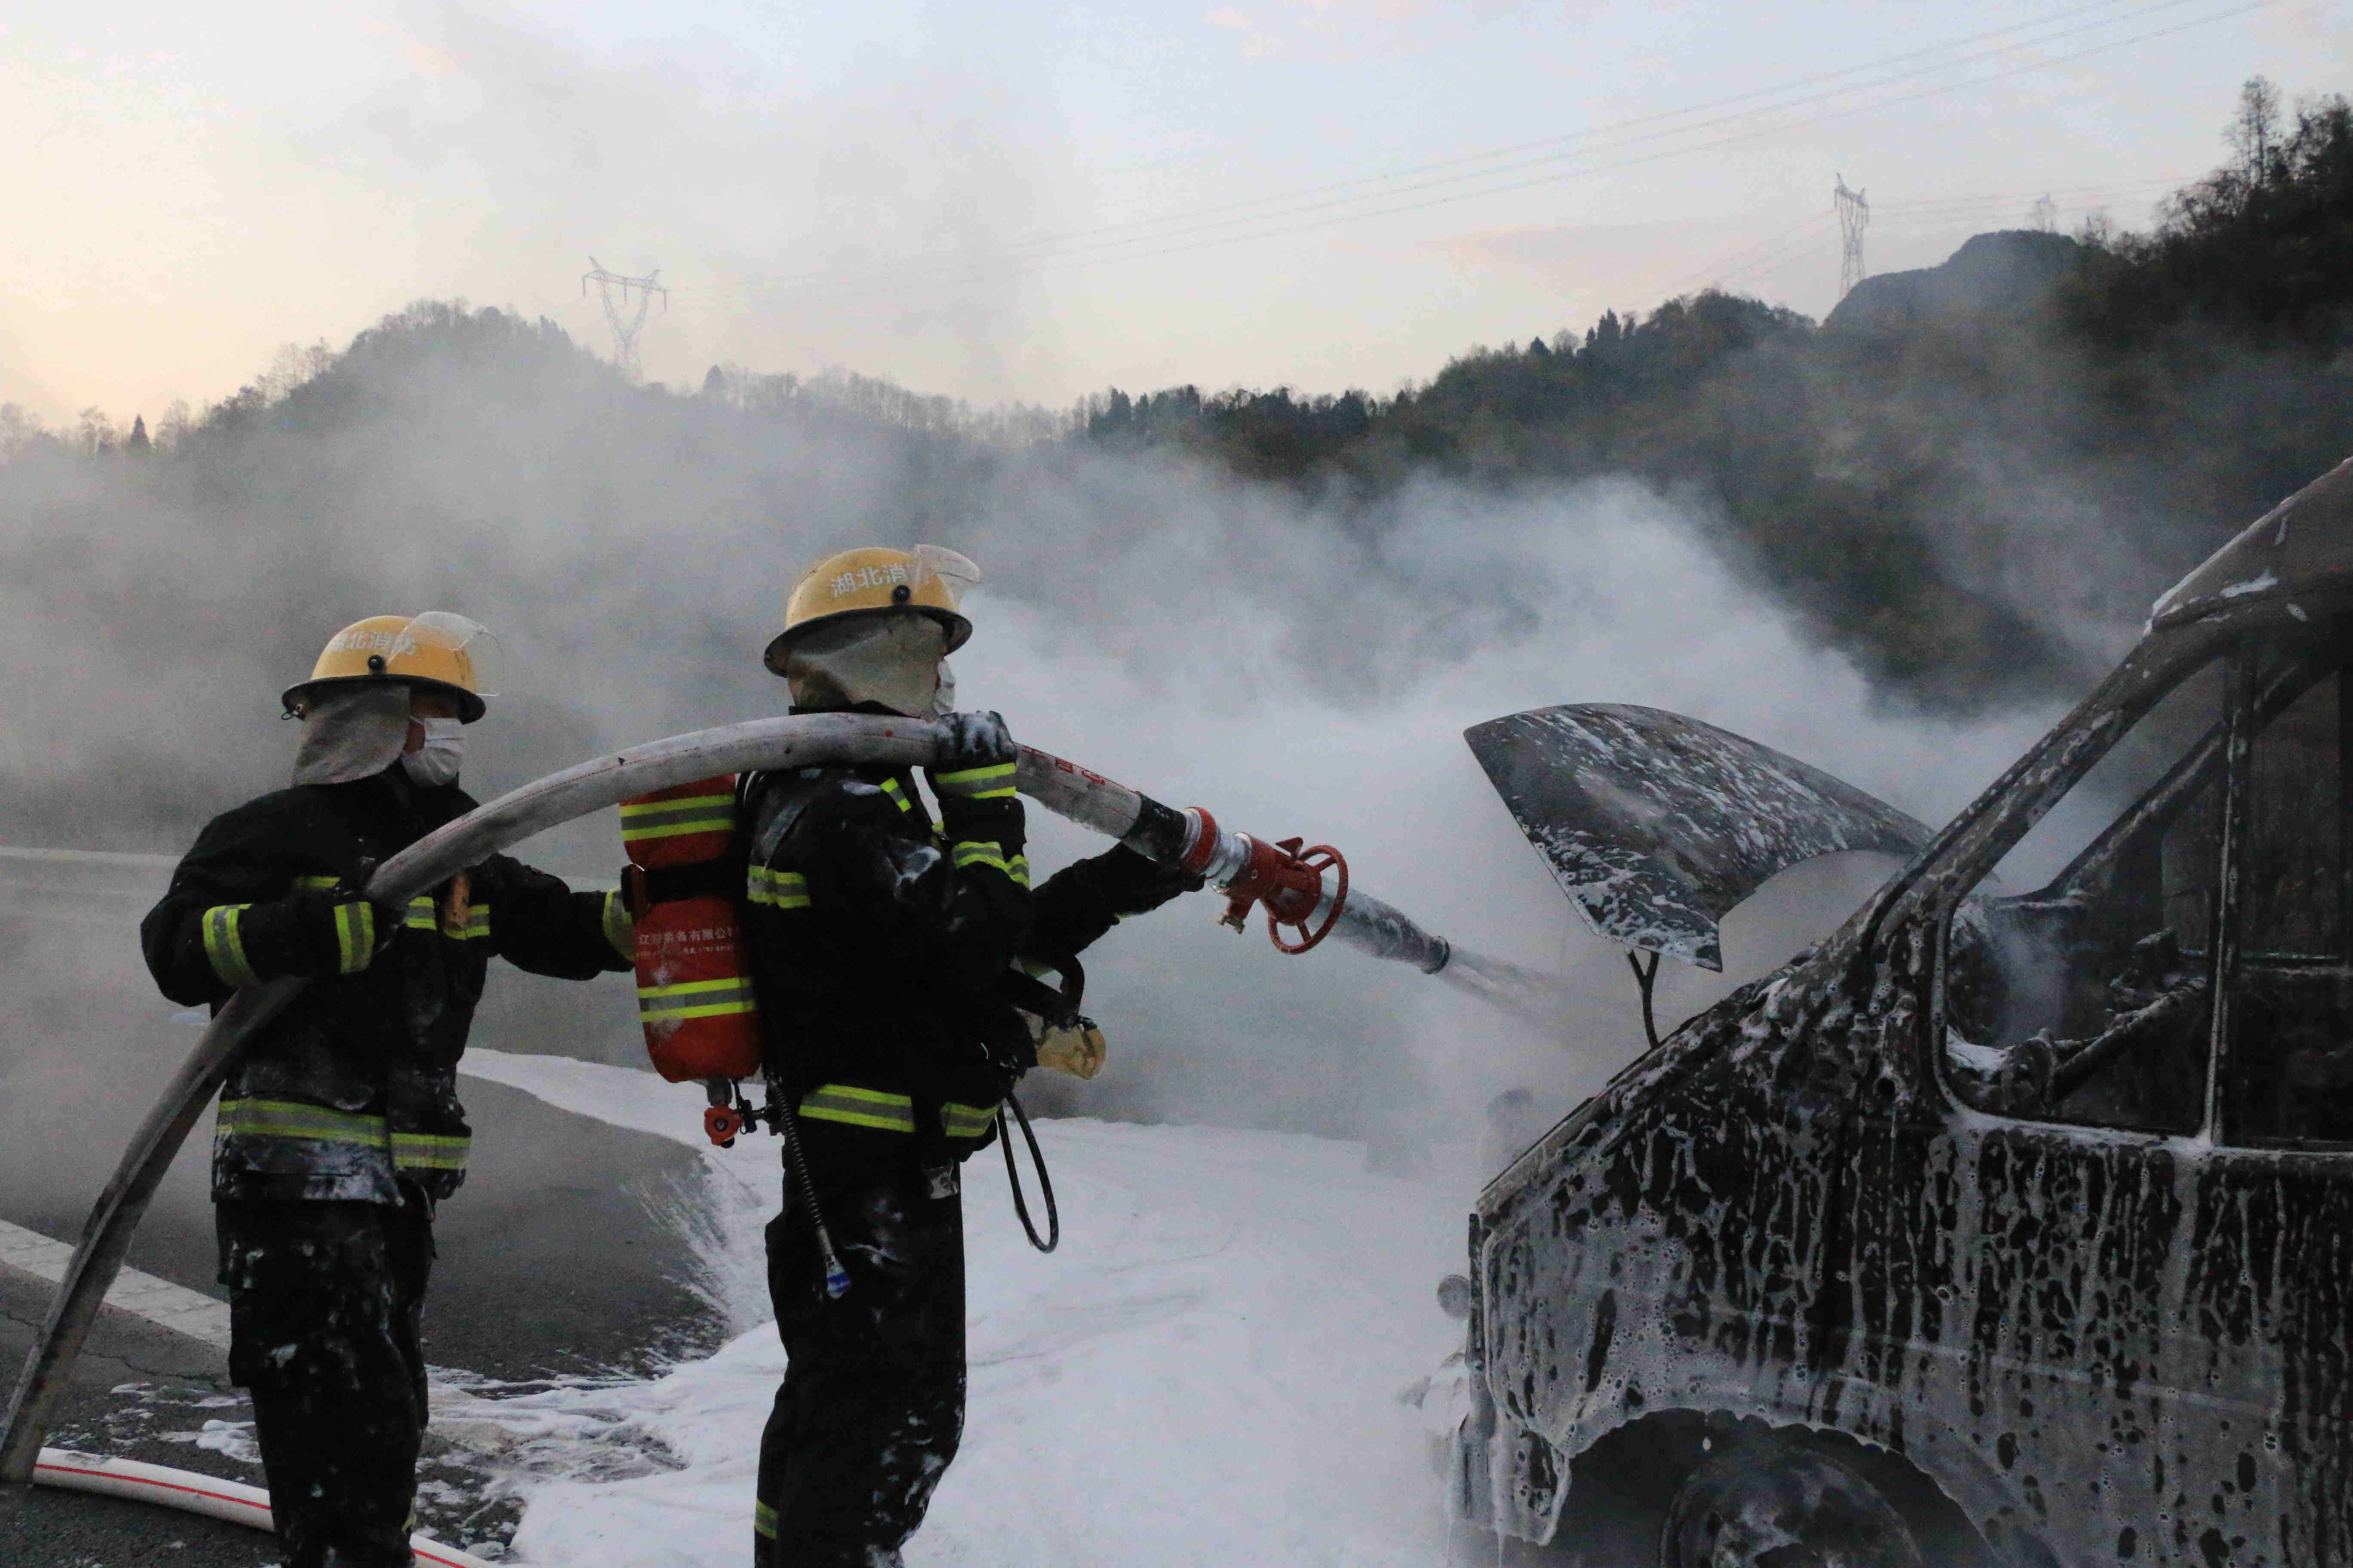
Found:
[{"label": "entire wooded mountain ridge spanning the photo, hazy left to dark right", "polygon": [[[2146,235],[1981,235],[1824,324],[1704,292],[1393,397],[1111,390],[1049,414],[720,367],[671,390],[546,320],[426,301],[155,440],[0,409],[0,545],[38,583],[56,541],[129,515],[355,578],[419,520],[482,550],[649,517],[955,541],[984,496],[1096,505],[1085,475],[1122,463],[1280,494],[1395,576],[1417,487],[1633,477],[1889,701],[1969,710],[2080,689],[2155,592],[2348,451],[2353,110],[2289,120],[2254,82],[2231,160]],[[562,581],[565,555],[541,569]]]}]

